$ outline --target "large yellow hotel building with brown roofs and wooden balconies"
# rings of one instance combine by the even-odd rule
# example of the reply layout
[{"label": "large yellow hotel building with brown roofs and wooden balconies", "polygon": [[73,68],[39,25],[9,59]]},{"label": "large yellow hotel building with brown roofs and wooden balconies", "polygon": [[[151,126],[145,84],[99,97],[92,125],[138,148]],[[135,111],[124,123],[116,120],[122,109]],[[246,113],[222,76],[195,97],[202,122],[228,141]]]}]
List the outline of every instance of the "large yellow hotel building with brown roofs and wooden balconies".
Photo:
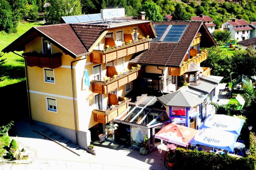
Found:
[{"label": "large yellow hotel building with brown roofs and wooden balconies", "polygon": [[200,67],[208,53],[200,47],[217,45],[206,25],[126,19],[33,27],[2,50],[23,51],[34,123],[83,148],[101,133],[140,148],[147,134],[152,150],[159,142],[153,135],[172,122],[172,110],[147,94],[170,93],[187,82],[186,93],[201,103],[186,112],[185,126],[197,129],[221,80]]}]

